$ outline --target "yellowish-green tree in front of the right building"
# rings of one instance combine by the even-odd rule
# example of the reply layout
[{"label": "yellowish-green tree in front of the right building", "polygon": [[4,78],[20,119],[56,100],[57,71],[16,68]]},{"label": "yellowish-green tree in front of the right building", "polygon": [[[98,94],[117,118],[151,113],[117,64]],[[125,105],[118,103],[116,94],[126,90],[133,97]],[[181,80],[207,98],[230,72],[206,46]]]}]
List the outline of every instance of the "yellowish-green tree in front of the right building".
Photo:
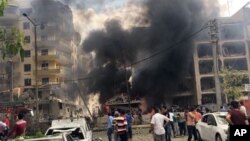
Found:
[{"label": "yellowish-green tree in front of the right building", "polygon": [[222,70],[222,88],[228,99],[238,99],[243,96],[244,84],[248,81],[248,75],[243,71],[226,68]]}]

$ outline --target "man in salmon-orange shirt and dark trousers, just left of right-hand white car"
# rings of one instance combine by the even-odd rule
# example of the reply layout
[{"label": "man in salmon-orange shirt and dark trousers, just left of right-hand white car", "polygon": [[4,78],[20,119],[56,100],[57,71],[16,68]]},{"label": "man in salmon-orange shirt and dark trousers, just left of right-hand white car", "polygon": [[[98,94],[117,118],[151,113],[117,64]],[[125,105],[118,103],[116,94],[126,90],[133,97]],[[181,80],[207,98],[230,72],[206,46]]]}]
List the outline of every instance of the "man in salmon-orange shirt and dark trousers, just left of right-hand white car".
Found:
[{"label": "man in salmon-orange shirt and dark trousers, just left of right-hand white car", "polygon": [[187,130],[188,130],[188,141],[192,140],[192,136],[194,135],[194,140],[196,141],[197,134],[195,128],[195,108],[191,108],[190,112],[187,113]]}]

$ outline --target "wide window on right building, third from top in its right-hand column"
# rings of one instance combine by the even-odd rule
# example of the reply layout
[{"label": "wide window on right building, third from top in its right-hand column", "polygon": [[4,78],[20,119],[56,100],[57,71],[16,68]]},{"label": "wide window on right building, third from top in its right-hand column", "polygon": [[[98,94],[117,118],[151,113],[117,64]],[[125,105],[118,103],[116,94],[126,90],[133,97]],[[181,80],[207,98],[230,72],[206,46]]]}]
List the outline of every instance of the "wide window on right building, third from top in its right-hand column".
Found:
[{"label": "wide window on right building, third from top in its right-hand column", "polygon": [[232,68],[234,70],[247,70],[247,60],[243,59],[226,59],[224,60],[226,68]]}]

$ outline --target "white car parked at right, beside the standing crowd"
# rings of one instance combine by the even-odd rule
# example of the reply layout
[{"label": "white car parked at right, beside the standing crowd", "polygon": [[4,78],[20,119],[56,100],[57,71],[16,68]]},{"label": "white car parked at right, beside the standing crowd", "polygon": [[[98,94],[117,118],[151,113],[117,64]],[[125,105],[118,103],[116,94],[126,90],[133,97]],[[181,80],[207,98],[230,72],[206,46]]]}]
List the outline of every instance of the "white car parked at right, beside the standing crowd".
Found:
[{"label": "white car parked at right, beside the standing crowd", "polygon": [[208,113],[196,124],[198,139],[205,141],[227,141],[227,113]]}]

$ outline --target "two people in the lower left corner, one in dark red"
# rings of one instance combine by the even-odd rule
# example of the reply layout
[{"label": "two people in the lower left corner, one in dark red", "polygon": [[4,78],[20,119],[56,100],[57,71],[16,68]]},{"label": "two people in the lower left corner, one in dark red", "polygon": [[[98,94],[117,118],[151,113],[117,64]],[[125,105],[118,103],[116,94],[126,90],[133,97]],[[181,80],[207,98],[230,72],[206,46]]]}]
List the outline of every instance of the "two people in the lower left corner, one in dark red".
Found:
[{"label": "two people in the lower left corner, one in dark red", "polygon": [[3,121],[0,121],[0,141],[8,139],[21,139],[25,134],[27,122],[23,119],[24,114],[19,113],[14,126],[10,129],[10,119],[6,114]]}]

